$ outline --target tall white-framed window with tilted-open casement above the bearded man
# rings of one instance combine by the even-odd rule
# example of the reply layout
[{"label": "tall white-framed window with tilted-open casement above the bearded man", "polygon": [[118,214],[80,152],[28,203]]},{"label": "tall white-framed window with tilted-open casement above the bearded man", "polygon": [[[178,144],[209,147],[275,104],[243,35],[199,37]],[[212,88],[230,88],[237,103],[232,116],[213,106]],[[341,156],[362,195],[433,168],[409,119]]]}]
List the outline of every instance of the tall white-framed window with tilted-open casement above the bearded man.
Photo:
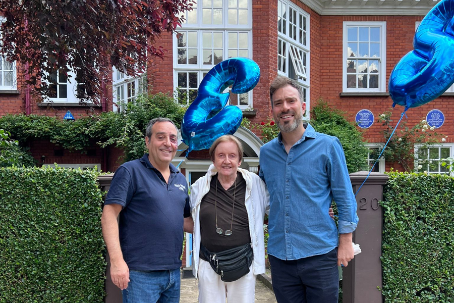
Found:
[{"label": "tall white-framed window with tilted-open casement above the bearded man", "polygon": [[[277,1],[277,73],[297,80],[310,110],[310,16],[287,0]],[[305,119],[308,119],[308,114]]]}]

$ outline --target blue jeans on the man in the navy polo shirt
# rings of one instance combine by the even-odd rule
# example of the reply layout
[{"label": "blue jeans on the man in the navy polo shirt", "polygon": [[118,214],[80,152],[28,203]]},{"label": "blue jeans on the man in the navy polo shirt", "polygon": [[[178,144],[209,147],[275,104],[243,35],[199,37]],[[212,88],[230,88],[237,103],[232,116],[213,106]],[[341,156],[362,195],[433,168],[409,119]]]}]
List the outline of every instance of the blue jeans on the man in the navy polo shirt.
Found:
[{"label": "blue jeans on the man in the navy polo shirt", "polygon": [[129,271],[123,303],[179,303],[180,269],[150,272]]}]

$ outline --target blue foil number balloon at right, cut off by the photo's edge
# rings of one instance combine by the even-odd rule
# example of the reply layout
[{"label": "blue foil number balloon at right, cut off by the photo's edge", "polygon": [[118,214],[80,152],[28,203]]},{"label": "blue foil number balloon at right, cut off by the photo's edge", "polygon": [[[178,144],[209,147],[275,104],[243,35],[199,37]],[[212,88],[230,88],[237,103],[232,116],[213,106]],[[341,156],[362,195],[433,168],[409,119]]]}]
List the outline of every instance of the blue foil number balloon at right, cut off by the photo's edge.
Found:
[{"label": "blue foil number balloon at right, cut off by the photo's edge", "polygon": [[424,17],[415,33],[414,51],[389,77],[389,94],[405,110],[426,104],[454,83],[454,0],[443,0]]}]

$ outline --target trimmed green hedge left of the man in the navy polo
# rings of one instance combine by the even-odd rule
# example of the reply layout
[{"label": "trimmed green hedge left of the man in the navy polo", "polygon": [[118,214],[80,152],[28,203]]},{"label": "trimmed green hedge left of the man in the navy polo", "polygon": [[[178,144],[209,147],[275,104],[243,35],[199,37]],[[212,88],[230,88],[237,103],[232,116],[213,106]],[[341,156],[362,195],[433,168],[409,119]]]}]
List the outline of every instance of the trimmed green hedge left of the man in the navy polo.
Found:
[{"label": "trimmed green hedge left of the man in the navy polo", "polygon": [[0,302],[102,302],[97,173],[0,168]]}]

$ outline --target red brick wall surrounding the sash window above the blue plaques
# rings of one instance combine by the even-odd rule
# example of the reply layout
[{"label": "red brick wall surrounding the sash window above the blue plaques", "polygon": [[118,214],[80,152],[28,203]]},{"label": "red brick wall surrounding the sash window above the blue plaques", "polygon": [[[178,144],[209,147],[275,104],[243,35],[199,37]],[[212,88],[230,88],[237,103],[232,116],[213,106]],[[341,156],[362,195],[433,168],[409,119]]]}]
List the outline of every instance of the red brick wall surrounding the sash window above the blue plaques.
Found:
[{"label": "red brick wall surrounding the sash window above the blue plaques", "polygon": [[[313,15],[313,13],[312,13]],[[312,18],[311,15],[311,18]],[[392,109],[392,100],[388,97],[341,97],[342,92],[342,39],[343,39],[343,22],[344,21],[386,21],[386,89],[389,75],[399,60],[413,49],[413,37],[415,32],[416,21],[422,20],[421,16],[320,16],[320,36],[311,37],[323,41],[320,48],[320,90],[312,90],[311,99],[323,97],[329,104],[336,108],[347,111],[351,115],[351,121],[354,121],[354,115],[361,109],[368,109],[374,114],[375,123],[369,129],[365,130],[364,137],[369,142],[383,142],[380,134],[381,124],[377,123],[378,115],[384,111],[392,111],[392,119],[397,122],[403,107],[396,106]],[[311,23],[312,25],[312,23]],[[313,30],[311,30],[311,33]],[[312,45],[312,44],[311,44]],[[311,49],[312,51],[312,49]],[[311,55],[311,59],[312,59]],[[316,72],[314,63],[311,62],[311,75]],[[311,78],[311,88],[314,76]],[[317,85],[317,84],[315,84]],[[410,109],[407,111],[407,121],[409,127],[426,118],[427,113],[432,109],[439,109],[445,115],[445,123],[437,131],[448,135],[447,142],[452,141],[454,134],[454,107],[452,102],[454,97],[440,97],[427,105]]]}]

